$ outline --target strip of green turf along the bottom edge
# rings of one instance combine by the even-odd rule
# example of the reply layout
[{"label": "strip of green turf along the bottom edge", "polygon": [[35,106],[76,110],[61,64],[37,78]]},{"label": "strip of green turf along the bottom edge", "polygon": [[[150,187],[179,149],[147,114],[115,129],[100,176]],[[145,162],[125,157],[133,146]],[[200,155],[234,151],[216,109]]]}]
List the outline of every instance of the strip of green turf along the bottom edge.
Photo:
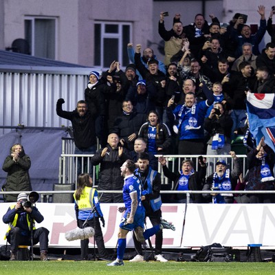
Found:
[{"label": "strip of green turf along the bottom edge", "polygon": [[124,262],[124,266],[108,267],[104,261],[0,261],[0,274],[12,275],[84,275],[84,274],[118,274],[118,275],[274,275],[275,263],[195,263],[175,262],[159,263],[154,261],[143,263]]}]

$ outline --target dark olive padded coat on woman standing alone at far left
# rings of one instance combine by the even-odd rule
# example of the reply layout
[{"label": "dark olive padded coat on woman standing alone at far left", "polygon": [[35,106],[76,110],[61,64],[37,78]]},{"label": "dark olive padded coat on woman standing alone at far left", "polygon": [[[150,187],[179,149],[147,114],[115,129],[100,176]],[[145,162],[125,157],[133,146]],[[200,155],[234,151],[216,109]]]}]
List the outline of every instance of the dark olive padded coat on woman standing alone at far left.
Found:
[{"label": "dark olive padded coat on woman standing alone at far left", "polygon": [[[10,150],[10,153],[12,150]],[[29,169],[31,166],[30,157],[25,155],[22,146],[22,151],[19,154],[19,160],[14,162],[13,157],[8,155],[5,158],[2,169],[8,173],[7,182],[5,184],[6,191],[31,191]],[[6,195],[6,201],[17,201],[17,194]]]}]

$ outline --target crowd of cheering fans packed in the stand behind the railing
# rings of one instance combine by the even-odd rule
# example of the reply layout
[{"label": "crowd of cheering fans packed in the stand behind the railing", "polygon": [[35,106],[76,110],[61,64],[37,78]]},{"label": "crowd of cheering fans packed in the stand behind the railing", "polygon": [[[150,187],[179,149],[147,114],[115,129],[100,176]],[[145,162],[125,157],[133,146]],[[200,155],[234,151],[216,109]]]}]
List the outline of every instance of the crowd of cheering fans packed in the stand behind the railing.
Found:
[{"label": "crowd of cheering fans packed in the stand behind the railing", "polygon": [[[244,14],[234,14],[229,24],[222,26],[213,14],[210,15],[212,23],[197,14],[194,23],[184,26],[180,14],[175,14],[172,28],[166,30],[165,14],[161,12],[159,35],[164,39],[164,63],[150,47],[142,49],[141,44],[129,43],[127,51],[131,63],[125,72],[118,61],[113,61],[101,77],[98,72],[89,74],[84,110],[63,111],[64,100],[58,100],[57,113],[72,120],[75,140],[83,133],[89,135],[87,129],[94,129],[85,128],[85,125],[95,125],[101,149],[91,158],[91,164],[101,164],[98,190],[120,190],[122,180],[118,166],[127,158],[136,162],[137,154],[144,151],[149,154],[150,165],[155,170],[157,158],[154,155],[217,155],[217,158],[232,155],[232,171],[227,167],[229,159],[225,158],[217,163],[214,161],[217,158],[201,159],[198,172],[190,159],[182,164],[179,175],[169,171],[164,159],[160,158],[159,162],[164,175],[177,182],[175,190],[217,190],[217,186],[219,190],[240,188],[241,165],[231,148],[239,135],[244,137],[243,146],[248,156],[256,150],[253,156],[265,163],[259,165],[258,170],[254,169],[253,176],[250,168],[248,175],[241,177],[243,189],[245,186],[250,186],[250,190],[274,189],[273,162],[267,165],[272,173],[270,184],[251,183],[256,177],[262,182],[261,167],[267,164],[272,150],[264,140],[261,146],[256,144],[249,131],[246,94],[248,91],[275,93],[274,12],[270,11],[267,23],[265,7],[260,5],[257,11],[259,29],[253,34],[250,25],[245,24]],[[266,30],[271,42],[260,52],[259,43]],[[81,107],[83,102],[79,104]],[[86,117],[89,117],[88,122]],[[83,137],[81,140],[85,141]],[[93,150],[94,137],[92,140],[87,139],[86,144],[76,140],[76,146],[82,146],[76,153]],[[265,152],[261,156],[258,154],[260,148]],[[251,164],[250,157],[249,160]],[[207,178],[206,166],[209,166]],[[117,180],[106,180],[110,174],[117,175]],[[108,197],[105,202],[122,201],[120,195],[105,196]],[[208,202],[210,197],[216,203],[234,201],[233,197],[214,193],[195,195],[191,201]],[[182,196],[175,199],[185,200]],[[270,197],[268,201],[273,202]]]}]

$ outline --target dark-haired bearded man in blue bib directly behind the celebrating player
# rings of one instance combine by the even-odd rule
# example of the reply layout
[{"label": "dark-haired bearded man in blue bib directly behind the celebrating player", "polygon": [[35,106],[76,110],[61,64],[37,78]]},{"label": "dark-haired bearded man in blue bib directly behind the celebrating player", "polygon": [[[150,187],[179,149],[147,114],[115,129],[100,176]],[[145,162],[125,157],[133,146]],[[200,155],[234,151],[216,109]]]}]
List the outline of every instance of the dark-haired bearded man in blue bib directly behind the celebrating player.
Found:
[{"label": "dark-haired bearded man in blue bib directly behind the celebrating player", "polygon": [[[134,175],[137,179],[140,179],[140,184],[142,186],[142,204],[145,208],[145,217],[148,217],[152,225],[155,226],[161,222],[162,218],[162,210],[160,209],[162,206],[162,199],[160,197],[160,174],[149,166],[149,156],[147,153],[140,153],[137,158],[138,168],[135,170]],[[135,235],[133,236],[133,241],[135,243],[137,255],[130,261],[143,261],[142,243],[137,241]],[[155,260],[167,262],[162,255],[162,241],[162,230],[159,230],[159,232],[155,234]]]}]

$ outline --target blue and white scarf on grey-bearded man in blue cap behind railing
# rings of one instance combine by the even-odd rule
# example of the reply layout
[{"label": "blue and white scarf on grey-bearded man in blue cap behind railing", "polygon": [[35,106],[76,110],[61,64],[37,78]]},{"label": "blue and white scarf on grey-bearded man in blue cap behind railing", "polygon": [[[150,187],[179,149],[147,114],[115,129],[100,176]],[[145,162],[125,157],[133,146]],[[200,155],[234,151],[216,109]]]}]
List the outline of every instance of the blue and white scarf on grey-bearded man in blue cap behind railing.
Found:
[{"label": "blue and white scarf on grey-bearded man in blue cap behind railing", "polygon": [[[226,169],[222,177],[217,175],[217,172],[213,175],[212,190],[217,191],[230,191],[232,190],[232,184],[230,180],[230,169]],[[224,197],[232,197],[232,194],[220,193],[212,198],[212,203],[225,203]]]}]

